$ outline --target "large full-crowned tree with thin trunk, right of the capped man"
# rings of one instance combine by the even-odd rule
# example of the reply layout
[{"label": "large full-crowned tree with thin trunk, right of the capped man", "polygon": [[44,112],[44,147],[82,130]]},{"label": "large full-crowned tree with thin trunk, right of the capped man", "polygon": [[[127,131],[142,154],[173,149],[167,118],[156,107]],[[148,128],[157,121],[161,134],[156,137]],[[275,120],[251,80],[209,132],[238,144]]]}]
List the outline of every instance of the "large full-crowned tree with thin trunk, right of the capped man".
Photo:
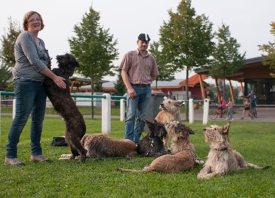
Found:
[{"label": "large full-crowned tree with thin trunk, right of the capped man", "polygon": [[[182,0],[177,12],[168,10],[170,21],[164,21],[159,29],[159,42],[162,54],[170,63],[170,69],[183,71],[186,69],[186,99],[188,99],[189,72],[210,62],[210,55],[214,49],[212,38],[212,23],[204,14],[196,16],[191,8],[190,0]],[[188,120],[188,106],[186,104],[186,119]]]}]

